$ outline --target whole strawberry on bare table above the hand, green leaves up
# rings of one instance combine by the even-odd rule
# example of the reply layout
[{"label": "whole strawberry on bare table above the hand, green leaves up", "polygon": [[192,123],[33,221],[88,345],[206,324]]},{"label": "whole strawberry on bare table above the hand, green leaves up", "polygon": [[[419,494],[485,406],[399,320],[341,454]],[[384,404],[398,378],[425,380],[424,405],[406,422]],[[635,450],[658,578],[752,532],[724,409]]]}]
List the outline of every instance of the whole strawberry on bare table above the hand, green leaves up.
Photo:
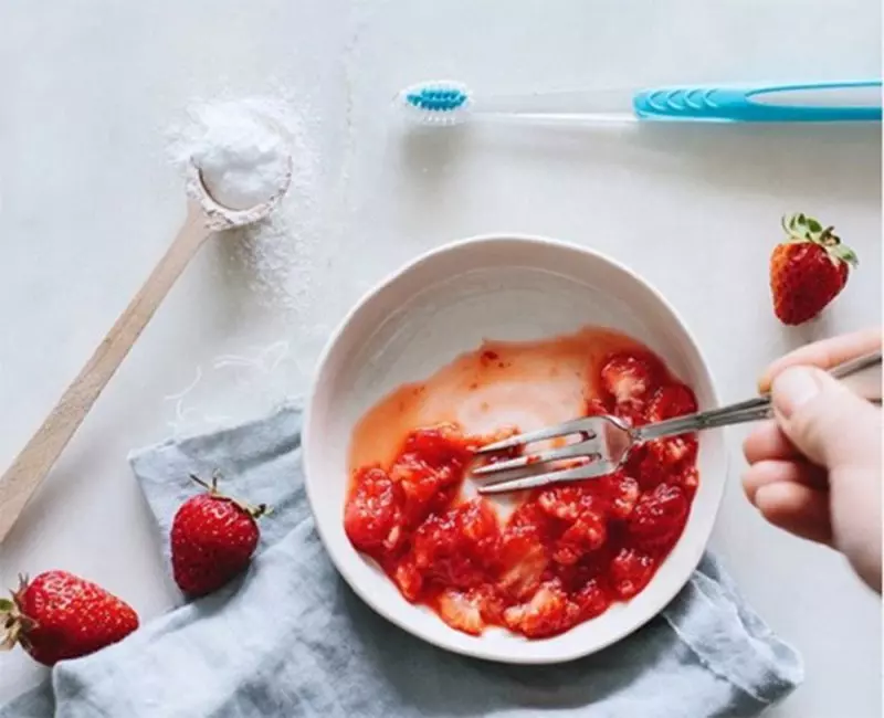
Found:
[{"label": "whole strawberry on bare table above the hand, green leaves up", "polygon": [[841,244],[834,228],[823,229],[804,214],[783,218],[782,228],[789,239],[770,255],[774,312],[783,324],[802,324],[822,312],[844,288],[856,255]]}]

